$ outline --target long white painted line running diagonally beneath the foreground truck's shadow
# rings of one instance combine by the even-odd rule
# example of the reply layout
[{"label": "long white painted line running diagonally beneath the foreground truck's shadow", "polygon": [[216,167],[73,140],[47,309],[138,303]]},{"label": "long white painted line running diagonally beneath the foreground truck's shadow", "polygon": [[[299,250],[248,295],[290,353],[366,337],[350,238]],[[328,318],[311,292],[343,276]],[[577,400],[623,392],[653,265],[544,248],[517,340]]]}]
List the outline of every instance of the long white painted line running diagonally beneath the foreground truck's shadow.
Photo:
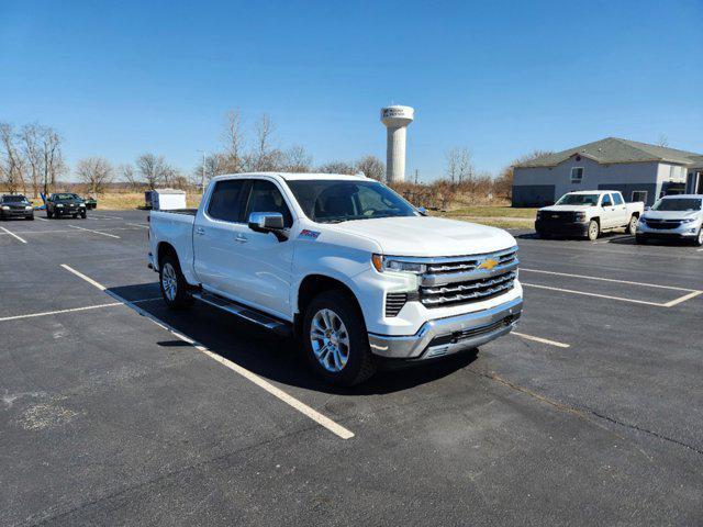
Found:
[{"label": "long white painted line running diagonally beneath the foreground truck's shadow", "polygon": [[288,404],[289,406],[295,408],[298,412],[300,412],[301,414],[305,415],[310,419],[314,421],[320,426],[322,426],[322,427],[326,428],[327,430],[332,431],[337,437],[339,437],[342,439],[350,439],[350,438],[354,437],[354,433],[352,430],[349,430],[349,429],[345,428],[344,426],[335,423],[330,417],[327,417],[327,416],[321,414],[320,412],[317,412],[316,410],[308,406],[302,401],[299,401],[298,399],[293,397],[292,395],[286,393],[280,388],[275,386],[274,384],[271,384],[267,380],[263,379],[261,377],[257,375],[253,371],[249,371],[246,368],[237,365],[236,362],[233,362],[230,359],[225,359],[224,357],[221,357],[220,355],[215,354],[214,351],[211,351],[205,346],[203,346],[200,343],[197,343],[196,340],[193,340],[192,338],[183,335],[182,333],[180,333],[178,329],[176,329],[171,325],[167,324],[166,322],[161,321],[160,318],[157,318],[156,316],[152,315],[150,313],[148,313],[148,312],[144,311],[143,309],[141,309],[140,306],[135,305],[134,302],[130,302],[129,300],[123,299],[119,294],[115,294],[112,291],[109,291],[101,283],[94,281],[90,277],[87,277],[82,272],[77,271],[72,267],[67,266],[66,264],[62,264],[60,267],[63,267],[64,269],[66,269],[67,271],[71,272],[71,273],[74,273],[78,278],[81,278],[82,280],[87,281],[91,285],[94,285],[100,291],[104,292],[105,294],[109,294],[110,296],[112,296],[113,299],[118,300],[119,302],[122,302],[124,305],[126,305],[127,307],[131,307],[132,310],[134,310],[140,315],[144,316],[145,318],[148,318],[149,321],[152,321],[157,326],[159,326],[159,327],[166,329],[167,332],[169,332],[176,338],[178,338],[178,339],[180,339],[180,340],[182,340],[185,343],[190,344],[198,351],[204,354],[205,356],[210,357],[211,359],[216,360],[222,366],[225,366],[226,368],[231,369],[235,373],[238,373],[239,375],[244,377],[248,381],[253,382],[257,386],[266,390],[268,393],[270,393],[271,395],[274,395],[278,400],[280,400],[280,401],[284,402],[286,404]]}]

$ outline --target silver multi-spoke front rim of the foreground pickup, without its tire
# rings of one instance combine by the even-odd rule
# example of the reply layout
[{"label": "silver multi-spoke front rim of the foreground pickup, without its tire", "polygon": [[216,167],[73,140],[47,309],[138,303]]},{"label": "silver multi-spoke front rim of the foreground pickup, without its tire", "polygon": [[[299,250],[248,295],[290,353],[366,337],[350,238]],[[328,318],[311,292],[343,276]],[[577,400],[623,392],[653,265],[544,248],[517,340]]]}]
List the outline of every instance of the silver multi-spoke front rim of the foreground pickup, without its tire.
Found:
[{"label": "silver multi-spoke front rim of the foreground pickup, without its tire", "polygon": [[349,334],[332,310],[320,310],[310,325],[310,341],[317,361],[334,373],[344,369],[349,359]]}]

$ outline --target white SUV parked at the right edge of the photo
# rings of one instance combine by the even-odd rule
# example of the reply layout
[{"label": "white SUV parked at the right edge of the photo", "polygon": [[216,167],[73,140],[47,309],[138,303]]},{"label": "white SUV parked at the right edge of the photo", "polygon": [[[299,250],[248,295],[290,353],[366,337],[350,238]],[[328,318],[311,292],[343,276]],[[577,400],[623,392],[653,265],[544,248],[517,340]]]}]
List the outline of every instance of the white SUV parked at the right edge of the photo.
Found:
[{"label": "white SUV parked at the right edge of the photo", "polygon": [[637,224],[638,244],[649,239],[684,239],[703,246],[703,195],[666,195]]}]

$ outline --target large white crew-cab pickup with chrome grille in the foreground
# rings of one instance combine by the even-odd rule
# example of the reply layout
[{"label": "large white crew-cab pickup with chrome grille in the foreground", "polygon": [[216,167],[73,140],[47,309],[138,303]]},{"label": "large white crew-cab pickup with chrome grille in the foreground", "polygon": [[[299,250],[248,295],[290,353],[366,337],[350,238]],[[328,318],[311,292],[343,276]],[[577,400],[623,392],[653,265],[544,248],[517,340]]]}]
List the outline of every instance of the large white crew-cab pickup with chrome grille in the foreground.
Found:
[{"label": "large white crew-cab pickup with chrome grille in the foreground", "polygon": [[214,178],[197,211],[152,212],[149,267],[174,309],[198,299],[297,336],[326,380],[510,333],[521,315],[505,231],[428,217],[359,176]]}]

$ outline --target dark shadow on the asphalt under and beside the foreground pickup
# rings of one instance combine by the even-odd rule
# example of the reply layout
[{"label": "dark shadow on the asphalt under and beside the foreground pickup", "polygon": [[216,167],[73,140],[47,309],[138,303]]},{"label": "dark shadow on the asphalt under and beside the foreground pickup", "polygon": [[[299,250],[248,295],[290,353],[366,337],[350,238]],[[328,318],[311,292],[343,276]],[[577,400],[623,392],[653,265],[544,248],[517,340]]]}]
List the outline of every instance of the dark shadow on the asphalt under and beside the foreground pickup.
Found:
[{"label": "dark shadow on the asphalt under and beside the foreground pickup", "polygon": [[[159,296],[158,283],[142,283],[108,289],[127,301]],[[384,394],[436,381],[469,366],[477,358],[476,350],[457,354],[440,360],[399,367],[382,363],[367,382],[353,388],[332,386],[320,380],[309,368],[302,347],[292,338],[282,338],[234,315],[197,303],[185,311],[171,311],[160,300],[140,302],[138,307],[192,338],[210,351],[224,357],[269,381],[306,390],[339,394]],[[188,343],[178,338],[163,338],[154,344],[172,352],[182,352]]]}]

